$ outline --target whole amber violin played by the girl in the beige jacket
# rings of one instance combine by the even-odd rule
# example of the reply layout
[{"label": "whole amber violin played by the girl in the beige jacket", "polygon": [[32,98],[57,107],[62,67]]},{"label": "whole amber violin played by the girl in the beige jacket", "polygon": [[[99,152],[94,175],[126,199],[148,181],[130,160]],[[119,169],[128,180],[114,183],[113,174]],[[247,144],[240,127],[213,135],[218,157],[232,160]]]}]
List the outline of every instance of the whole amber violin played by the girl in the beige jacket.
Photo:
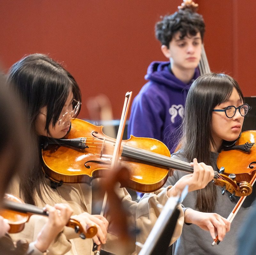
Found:
[{"label": "whole amber violin played by the girl in the beige jacket", "polygon": [[[65,139],[50,139],[42,149],[43,171],[46,177],[59,183],[91,183],[110,168],[115,139],[84,120],[72,119],[72,128]],[[153,138],[135,137],[121,142],[120,164],[128,166],[128,186],[139,192],[153,192],[161,188],[173,169],[189,173],[189,163],[170,157],[167,146]],[[252,187],[247,182],[239,185],[226,175],[215,171],[214,184],[225,187],[236,196],[248,195]],[[121,183],[122,186],[122,183]]]}]

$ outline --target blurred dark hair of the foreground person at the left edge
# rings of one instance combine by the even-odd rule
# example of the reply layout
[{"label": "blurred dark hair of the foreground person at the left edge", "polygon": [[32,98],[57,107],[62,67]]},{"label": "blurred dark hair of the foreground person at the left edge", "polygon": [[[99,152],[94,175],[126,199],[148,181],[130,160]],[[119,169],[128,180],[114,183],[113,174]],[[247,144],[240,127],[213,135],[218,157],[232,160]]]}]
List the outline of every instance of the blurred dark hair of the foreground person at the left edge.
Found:
[{"label": "blurred dark hair of the foreground person at the left edge", "polygon": [[19,96],[6,86],[6,79],[0,74],[0,204],[15,174],[22,178],[33,163],[34,148],[25,116]]}]

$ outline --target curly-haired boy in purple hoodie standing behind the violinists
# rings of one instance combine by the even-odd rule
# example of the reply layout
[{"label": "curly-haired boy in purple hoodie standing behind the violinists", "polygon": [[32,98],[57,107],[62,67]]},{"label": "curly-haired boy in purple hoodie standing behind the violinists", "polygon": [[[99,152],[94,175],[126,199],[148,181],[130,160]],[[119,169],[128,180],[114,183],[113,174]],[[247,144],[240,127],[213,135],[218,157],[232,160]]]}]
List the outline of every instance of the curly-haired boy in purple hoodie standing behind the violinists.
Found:
[{"label": "curly-haired boy in purple hoodie standing behind the violinists", "polygon": [[165,16],[156,24],[156,37],[169,62],[149,65],[145,75],[149,81],[133,100],[128,138],[152,137],[164,142],[173,153],[187,92],[199,76],[204,32],[203,17],[188,9]]}]

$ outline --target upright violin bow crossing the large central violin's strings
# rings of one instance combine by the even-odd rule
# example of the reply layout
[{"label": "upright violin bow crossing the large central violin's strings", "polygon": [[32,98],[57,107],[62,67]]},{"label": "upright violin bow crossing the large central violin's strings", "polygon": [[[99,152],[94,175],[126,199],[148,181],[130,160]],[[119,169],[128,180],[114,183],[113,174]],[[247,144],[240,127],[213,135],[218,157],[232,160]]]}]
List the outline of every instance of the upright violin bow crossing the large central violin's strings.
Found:
[{"label": "upright violin bow crossing the large central violin's strings", "polygon": [[[118,165],[120,147],[121,147],[122,137],[123,137],[123,133],[124,133],[125,123],[126,123],[127,116],[128,116],[128,110],[129,110],[129,106],[130,106],[130,102],[131,102],[131,95],[132,95],[132,92],[127,92],[125,94],[123,110],[122,110],[122,114],[121,114],[121,118],[120,118],[120,125],[118,128],[116,143],[115,143],[113,157],[112,157],[112,161],[111,161],[111,170],[112,171],[114,171],[113,169],[115,169]],[[105,214],[107,199],[108,199],[108,193],[106,191],[105,195],[104,195],[104,199],[103,199],[102,209],[100,212],[100,215],[102,215],[102,216]],[[93,247],[94,247],[93,248],[94,253],[96,255],[99,255],[101,245],[94,244]]]}]

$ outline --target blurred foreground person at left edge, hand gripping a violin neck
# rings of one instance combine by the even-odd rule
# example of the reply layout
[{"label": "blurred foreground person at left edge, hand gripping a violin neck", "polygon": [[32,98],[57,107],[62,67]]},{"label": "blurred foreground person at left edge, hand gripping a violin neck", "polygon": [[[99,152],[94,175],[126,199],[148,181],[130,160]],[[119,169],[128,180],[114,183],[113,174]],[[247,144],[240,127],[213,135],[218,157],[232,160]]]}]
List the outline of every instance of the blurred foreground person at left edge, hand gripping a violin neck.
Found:
[{"label": "blurred foreground person at left edge, hand gripping a violin neck", "polygon": [[[2,208],[4,193],[13,175],[17,173],[22,176],[22,170],[28,165],[27,159],[33,161],[33,157],[30,156],[32,154],[30,135],[24,118],[22,118],[24,113],[20,106],[13,91],[7,90],[3,77],[0,77],[0,129],[2,133],[0,141],[0,208]],[[73,212],[68,204],[46,205],[45,210],[49,212],[49,217],[44,217],[43,222],[46,223],[43,223],[34,242],[29,245],[21,242],[18,250],[15,250],[12,240],[6,236],[10,229],[8,222],[0,216],[0,254],[43,254],[64,228]],[[36,216],[31,220],[35,221],[35,219]]]}]

